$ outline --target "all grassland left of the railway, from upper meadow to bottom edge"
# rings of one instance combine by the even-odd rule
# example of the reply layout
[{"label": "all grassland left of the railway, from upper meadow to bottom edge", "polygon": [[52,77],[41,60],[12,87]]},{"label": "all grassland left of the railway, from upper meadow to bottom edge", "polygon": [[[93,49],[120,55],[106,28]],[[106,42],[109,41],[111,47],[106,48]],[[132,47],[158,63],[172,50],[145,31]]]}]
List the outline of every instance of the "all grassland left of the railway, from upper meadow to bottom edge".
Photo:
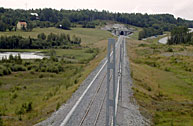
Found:
[{"label": "all grassland left of the railway, from upper meadow to bottom edge", "polygon": [[[100,29],[36,28],[32,32],[5,32],[0,35],[22,35],[36,37],[39,33],[67,33],[82,38],[82,47],[77,49],[55,49],[64,72],[50,73],[27,70],[12,72],[0,77],[0,115],[6,126],[30,126],[40,122],[56,111],[78,89],[82,81],[106,55],[107,39],[111,33]],[[98,49],[97,49],[98,48]],[[0,50],[0,51],[40,51],[49,55],[50,50]],[[97,54],[97,55],[96,55]],[[61,59],[70,62],[63,62]],[[29,62],[23,60],[22,64]],[[32,64],[49,65],[50,61],[30,60]],[[47,63],[45,63],[47,62]],[[0,64],[2,65],[2,64]],[[27,66],[26,66],[27,67]]]}]

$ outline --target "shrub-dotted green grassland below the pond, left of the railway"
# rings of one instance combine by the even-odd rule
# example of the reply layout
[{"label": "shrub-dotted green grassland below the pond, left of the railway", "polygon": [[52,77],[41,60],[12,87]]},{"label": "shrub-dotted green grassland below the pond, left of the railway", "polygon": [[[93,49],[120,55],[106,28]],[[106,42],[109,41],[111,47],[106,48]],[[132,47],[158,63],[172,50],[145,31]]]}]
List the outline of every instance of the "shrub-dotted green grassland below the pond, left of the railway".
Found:
[{"label": "shrub-dotted green grassland below the pond, left of the railway", "polygon": [[[58,104],[65,103],[81,83],[84,74],[87,74],[85,72],[88,70],[85,67],[88,62],[97,54],[97,52],[88,52],[88,49],[58,49],[56,56],[59,62],[23,60],[21,64],[26,68],[30,65],[39,66],[42,63],[46,66],[61,64],[64,71],[58,74],[40,72],[41,68],[34,68],[0,77],[0,113],[9,117],[4,119],[4,124],[27,125],[28,122],[31,123],[30,125],[35,124],[39,119],[47,117],[58,109]],[[49,53],[49,50],[44,51]],[[63,63],[62,57],[72,61]],[[30,64],[25,66],[25,62],[30,62]],[[3,63],[1,65],[6,66]],[[22,104],[29,102],[32,102],[32,111],[17,114],[21,111]],[[22,120],[19,121],[20,119]]]}]

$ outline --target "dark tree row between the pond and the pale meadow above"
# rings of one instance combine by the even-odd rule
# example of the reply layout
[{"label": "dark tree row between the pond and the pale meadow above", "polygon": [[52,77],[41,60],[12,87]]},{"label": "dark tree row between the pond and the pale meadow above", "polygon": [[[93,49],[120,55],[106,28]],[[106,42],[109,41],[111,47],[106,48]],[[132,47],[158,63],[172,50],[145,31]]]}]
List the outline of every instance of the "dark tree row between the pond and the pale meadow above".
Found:
[{"label": "dark tree row between the pond and the pale meadow above", "polygon": [[47,48],[71,48],[80,46],[81,38],[69,34],[44,33],[36,38],[24,38],[21,36],[1,36],[0,49],[47,49]]}]

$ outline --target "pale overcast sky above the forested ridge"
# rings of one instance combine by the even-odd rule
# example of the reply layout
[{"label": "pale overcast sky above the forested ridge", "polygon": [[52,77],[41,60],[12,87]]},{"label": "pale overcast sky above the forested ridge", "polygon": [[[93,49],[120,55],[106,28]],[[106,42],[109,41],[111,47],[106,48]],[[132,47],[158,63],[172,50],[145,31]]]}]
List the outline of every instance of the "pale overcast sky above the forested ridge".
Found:
[{"label": "pale overcast sky above the forested ridge", "polygon": [[170,13],[193,20],[193,0],[0,0],[5,8],[97,9],[111,12]]}]

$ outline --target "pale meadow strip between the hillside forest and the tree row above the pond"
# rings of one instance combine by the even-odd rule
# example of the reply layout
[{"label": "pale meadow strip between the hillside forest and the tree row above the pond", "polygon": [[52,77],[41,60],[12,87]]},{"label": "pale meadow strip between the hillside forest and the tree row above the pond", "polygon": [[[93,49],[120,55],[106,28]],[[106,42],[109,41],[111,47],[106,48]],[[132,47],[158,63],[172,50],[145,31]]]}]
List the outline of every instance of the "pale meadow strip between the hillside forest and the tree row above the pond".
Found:
[{"label": "pale meadow strip between the hillside forest and the tree row above the pond", "polygon": [[32,37],[37,38],[37,35],[40,33],[45,33],[46,35],[50,33],[55,34],[61,34],[66,33],[70,34],[71,36],[76,35],[77,37],[82,38],[82,44],[83,45],[92,45],[93,43],[96,43],[98,41],[104,40],[108,37],[112,37],[111,34],[108,31],[102,31],[99,28],[98,29],[91,29],[91,28],[72,28],[72,30],[62,30],[57,29],[54,27],[50,28],[34,28],[31,32],[24,32],[21,30],[18,31],[12,31],[12,32],[0,32],[0,36],[6,35],[19,35],[23,37]]}]

